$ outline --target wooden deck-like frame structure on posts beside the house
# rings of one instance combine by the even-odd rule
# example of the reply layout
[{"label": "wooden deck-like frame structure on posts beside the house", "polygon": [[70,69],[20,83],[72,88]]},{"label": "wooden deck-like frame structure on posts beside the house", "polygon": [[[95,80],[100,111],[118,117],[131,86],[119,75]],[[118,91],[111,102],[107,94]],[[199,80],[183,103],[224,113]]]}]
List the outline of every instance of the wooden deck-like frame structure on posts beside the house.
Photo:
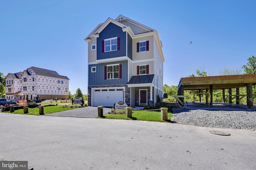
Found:
[{"label": "wooden deck-like frame structure on posts beside the house", "polygon": [[[210,104],[212,105],[212,90],[222,90],[223,101],[225,101],[225,89],[229,89],[229,102],[232,103],[232,99],[236,98],[236,104],[239,104],[241,100],[239,94],[240,87],[246,87],[247,106],[249,109],[253,109],[252,86],[256,85],[256,74],[241,74],[241,75],[229,75],[229,76],[205,76],[205,77],[186,77],[181,78],[178,85],[178,96],[184,95],[184,90],[210,90]],[[236,95],[232,98],[232,88],[236,88]],[[184,98],[180,98],[184,105]],[[207,101],[207,100],[206,100]],[[208,104],[208,102],[207,102]],[[183,106],[182,105],[182,106]]]}]

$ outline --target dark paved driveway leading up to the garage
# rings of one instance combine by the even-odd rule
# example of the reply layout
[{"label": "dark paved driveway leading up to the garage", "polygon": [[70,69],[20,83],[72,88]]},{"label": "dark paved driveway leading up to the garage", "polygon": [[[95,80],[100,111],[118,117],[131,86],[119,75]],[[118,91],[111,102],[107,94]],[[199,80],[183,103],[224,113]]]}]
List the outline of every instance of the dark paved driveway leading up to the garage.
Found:
[{"label": "dark paved driveway leading up to the garage", "polygon": [[[108,113],[109,108],[103,108],[103,114]],[[95,118],[98,116],[98,107],[80,107],[77,109],[71,109],[66,111],[60,111],[55,113],[49,113],[43,116],[60,116],[60,117],[87,117]]]}]

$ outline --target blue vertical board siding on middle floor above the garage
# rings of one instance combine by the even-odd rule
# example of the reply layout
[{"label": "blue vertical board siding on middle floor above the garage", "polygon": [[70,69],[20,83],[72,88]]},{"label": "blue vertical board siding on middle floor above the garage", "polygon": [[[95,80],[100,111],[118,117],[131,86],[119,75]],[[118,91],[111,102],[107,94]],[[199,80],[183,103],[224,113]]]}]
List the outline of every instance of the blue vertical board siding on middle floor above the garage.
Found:
[{"label": "blue vertical board siding on middle floor above the garage", "polygon": [[[122,78],[105,80],[105,66],[108,64],[122,64]],[[92,67],[96,66],[96,72],[92,72]],[[118,61],[110,63],[88,65],[88,86],[127,84],[128,61]]]}]

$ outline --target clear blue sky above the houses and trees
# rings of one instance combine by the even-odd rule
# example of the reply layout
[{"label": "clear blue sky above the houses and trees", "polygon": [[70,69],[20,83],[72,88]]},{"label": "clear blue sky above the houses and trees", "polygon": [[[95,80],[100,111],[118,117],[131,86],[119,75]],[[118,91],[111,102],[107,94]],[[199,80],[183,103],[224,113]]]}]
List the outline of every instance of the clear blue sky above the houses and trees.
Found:
[{"label": "clear blue sky above the houses and trees", "polygon": [[255,8],[255,0],[0,0],[0,72],[55,70],[72,94],[87,94],[84,38],[121,14],[158,31],[164,84],[177,86],[196,69],[217,76],[256,55]]}]

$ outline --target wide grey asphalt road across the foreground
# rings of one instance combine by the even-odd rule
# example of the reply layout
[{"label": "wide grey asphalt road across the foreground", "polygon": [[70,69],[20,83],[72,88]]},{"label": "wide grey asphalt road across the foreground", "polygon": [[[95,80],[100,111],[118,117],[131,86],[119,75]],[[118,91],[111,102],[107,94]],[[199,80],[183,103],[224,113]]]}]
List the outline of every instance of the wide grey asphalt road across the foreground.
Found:
[{"label": "wide grey asphalt road across the foreground", "polygon": [[251,130],[10,113],[0,113],[0,129],[0,160],[34,170],[256,169]]}]

